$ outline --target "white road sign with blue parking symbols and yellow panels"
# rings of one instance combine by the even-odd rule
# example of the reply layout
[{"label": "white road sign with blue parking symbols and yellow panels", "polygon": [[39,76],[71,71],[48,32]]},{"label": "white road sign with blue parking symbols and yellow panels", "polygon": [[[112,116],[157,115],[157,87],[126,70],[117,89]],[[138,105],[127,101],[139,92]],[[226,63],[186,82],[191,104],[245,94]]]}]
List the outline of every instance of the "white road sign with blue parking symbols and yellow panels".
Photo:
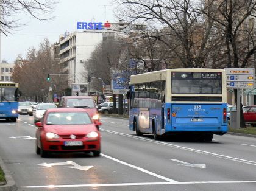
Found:
[{"label": "white road sign with blue parking symbols and yellow panels", "polygon": [[254,68],[225,68],[225,71],[227,88],[254,88]]}]

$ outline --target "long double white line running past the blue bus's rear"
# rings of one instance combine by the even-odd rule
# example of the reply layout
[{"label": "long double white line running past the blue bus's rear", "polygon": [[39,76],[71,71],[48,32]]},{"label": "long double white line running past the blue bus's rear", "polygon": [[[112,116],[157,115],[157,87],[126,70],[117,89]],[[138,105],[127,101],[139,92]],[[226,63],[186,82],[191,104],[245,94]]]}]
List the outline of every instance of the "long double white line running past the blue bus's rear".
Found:
[{"label": "long double white line running past the blue bus's rear", "polygon": [[215,157],[218,157],[218,158],[228,159],[230,161],[236,161],[236,162],[241,162],[241,163],[244,163],[244,164],[256,165],[255,161],[249,161],[249,160],[246,160],[246,159],[240,159],[240,158],[235,158],[235,157],[232,157],[232,156],[221,155],[221,154],[218,154],[218,153],[212,153],[212,152],[208,152],[208,151],[197,150],[197,149],[194,149],[194,148],[182,147],[182,146],[179,146],[179,145],[169,144],[167,142],[155,141],[155,140],[148,139],[148,138],[145,138],[145,137],[133,136],[133,135],[130,135],[130,134],[119,133],[119,132],[116,132],[116,131],[109,131],[109,130],[104,130],[104,129],[101,129],[101,131],[105,131],[105,132],[113,133],[113,134],[118,134],[118,135],[121,135],[121,136],[131,137],[133,139],[139,139],[139,140],[142,140],[142,141],[154,142],[155,144],[166,145],[166,146],[169,146],[169,147],[179,148],[179,149],[182,149],[182,150],[188,150],[188,151],[192,151],[192,152],[195,152],[195,153],[201,153],[201,154],[204,154],[204,155],[210,155],[210,156],[215,156]]}]

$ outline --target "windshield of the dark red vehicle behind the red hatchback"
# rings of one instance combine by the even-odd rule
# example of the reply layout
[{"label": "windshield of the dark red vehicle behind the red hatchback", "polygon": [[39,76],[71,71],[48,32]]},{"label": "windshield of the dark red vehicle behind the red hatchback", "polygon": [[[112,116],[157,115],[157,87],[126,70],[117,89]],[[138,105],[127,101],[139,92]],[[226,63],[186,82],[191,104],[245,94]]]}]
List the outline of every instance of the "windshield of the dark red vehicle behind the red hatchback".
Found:
[{"label": "windshield of the dark red vehicle behind the red hatchback", "polygon": [[67,99],[66,101],[67,107],[87,107],[87,108],[95,108],[94,100],[90,98],[73,98]]}]

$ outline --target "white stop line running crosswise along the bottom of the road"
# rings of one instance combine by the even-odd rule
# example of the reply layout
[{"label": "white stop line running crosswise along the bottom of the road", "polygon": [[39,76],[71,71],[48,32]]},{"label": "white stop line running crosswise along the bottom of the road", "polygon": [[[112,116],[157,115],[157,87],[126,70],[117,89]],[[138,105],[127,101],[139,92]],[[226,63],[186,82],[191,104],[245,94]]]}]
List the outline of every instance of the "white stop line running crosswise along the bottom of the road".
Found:
[{"label": "white stop line running crosswise along the bottom of the road", "polygon": [[149,185],[175,185],[175,184],[247,184],[256,183],[256,181],[194,181],[194,182],[141,182],[141,183],[118,183],[118,184],[65,184],[65,185],[39,185],[39,186],[21,186],[27,189],[41,188],[65,188],[65,187],[103,187],[103,186],[149,186]]}]

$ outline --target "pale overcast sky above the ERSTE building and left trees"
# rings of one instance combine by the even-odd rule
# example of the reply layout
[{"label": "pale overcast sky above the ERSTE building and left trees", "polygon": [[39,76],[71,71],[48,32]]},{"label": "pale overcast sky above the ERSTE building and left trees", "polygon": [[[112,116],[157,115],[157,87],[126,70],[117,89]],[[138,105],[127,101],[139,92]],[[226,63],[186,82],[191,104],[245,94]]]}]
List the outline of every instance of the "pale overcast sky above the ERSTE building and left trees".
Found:
[{"label": "pale overcast sky above the ERSTE building and left trees", "polygon": [[[106,9],[104,5],[107,5]],[[44,38],[48,38],[51,44],[59,41],[59,35],[65,31],[77,31],[77,21],[90,22],[94,17],[95,22],[104,23],[105,15],[106,20],[116,21],[113,8],[112,0],[59,0],[51,15],[55,16],[52,21],[42,22],[25,13],[20,14],[18,18],[27,24],[8,36],[1,35],[1,61],[4,59],[13,63],[18,54],[26,58],[27,49],[38,49]]]}]

